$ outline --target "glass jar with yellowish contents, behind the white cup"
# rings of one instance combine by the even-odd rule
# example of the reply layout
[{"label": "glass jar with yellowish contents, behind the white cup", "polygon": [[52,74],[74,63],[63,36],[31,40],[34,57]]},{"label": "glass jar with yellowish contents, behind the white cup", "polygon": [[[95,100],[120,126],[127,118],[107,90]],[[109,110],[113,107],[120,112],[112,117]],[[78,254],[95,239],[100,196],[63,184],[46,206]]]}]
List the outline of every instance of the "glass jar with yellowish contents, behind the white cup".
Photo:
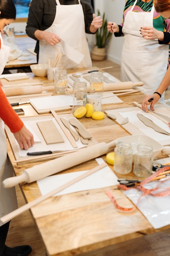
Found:
[{"label": "glass jar with yellowish contents, behind the white cup", "polygon": [[90,94],[103,95],[103,73],[102,72],[91,72],[90,78]]}]

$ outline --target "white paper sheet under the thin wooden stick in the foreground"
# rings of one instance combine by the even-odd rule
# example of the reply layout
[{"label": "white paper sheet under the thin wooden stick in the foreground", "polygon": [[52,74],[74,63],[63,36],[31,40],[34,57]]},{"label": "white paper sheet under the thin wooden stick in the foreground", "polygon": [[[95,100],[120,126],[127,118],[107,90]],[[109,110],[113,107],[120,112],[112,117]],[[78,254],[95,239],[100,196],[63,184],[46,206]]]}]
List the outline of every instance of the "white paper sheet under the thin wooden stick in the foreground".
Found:
[{"label": "white paper sheet under the thin wooden stick in the foreground", "polygon": [[[104,161],[102,158],[97,159],[99,164],[102,164]],[[80,176],[82,173],[87,171],[78,171],[74,173],[64,173],[59,175],[53,175],[50,177],[43,178],[38,180],[38,186],[42,195],[49,193],[50,191],[62,186],[66,182],[73,180],[75,177]],[[64,195],[69,193],[74,193],[78,191],[84,191],[89,189],[99,189],[107,186],[113,186],[119,184],[117,182],[117,176],[113,173],[113,171],[108,167],[104,167],[101,170],[89,175],[88,177],[76,182],[72,186],[60,191],[56,195]]]}]

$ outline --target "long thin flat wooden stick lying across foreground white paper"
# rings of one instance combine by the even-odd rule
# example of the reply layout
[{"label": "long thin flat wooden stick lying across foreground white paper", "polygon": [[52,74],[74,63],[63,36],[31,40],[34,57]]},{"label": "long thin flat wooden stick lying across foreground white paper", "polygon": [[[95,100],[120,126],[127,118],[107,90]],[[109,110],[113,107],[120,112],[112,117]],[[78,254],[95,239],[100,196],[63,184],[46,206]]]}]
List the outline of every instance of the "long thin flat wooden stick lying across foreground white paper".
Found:
[{"label": "long thin flat wooden stick lying across foreground white paper", "polygon": [[31,207],[35,206],[36,204],[39,204],[40,202],[46,200],[47,198],[55,195],[56,193],[66,189],[68,186],[71,186],[73,184],[75,184],[76,182],[78,182],[79,180],[84,179],[85,177],[95,173],[96,171],[104,168],[105,166],[107,166],[106,163],[104,164],[100,164],[96,167],[94,167],[93,169],[91,169],[90,171],[84,172],[82,175],[74,178],[73,180],[70,180],[69,182],[65,183],[64,185],[60,186],[57,189],[54,189],[53,191],[50,191],[49,193],[47,193],[46,195],[42,195],[40,198],[37,198],[35,200],[33,200],[32,202],[29,202],[28,204],[23,205],[22,207],[16,209],[15,211],[12,211],[11,213],[3,216],[2,218],[0,218],[0,220],[5,223],[9,220],[11,220],[12,218],[20,215],[21,213],[23,213],[26,210],[29,210]]}]

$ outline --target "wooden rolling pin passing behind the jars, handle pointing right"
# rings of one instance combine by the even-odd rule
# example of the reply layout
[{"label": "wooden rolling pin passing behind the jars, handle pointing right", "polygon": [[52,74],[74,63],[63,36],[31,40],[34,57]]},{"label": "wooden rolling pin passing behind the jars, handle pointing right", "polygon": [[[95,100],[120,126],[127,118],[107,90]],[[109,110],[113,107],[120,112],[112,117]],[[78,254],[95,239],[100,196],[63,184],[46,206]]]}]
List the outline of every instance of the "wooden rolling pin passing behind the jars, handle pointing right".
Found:
[{"label": "wooden rolling pin passing behind the jars, handle pointing right", "polygon": [[[144,85],[143,82],[137,82],[137,83],[133,83],[131,81],[128,82],[120,82],[120,83],[104,83],[103,85],[103,89],[104,92],[108,92],[108,91],[115,91],[115,90],[126,90],[126,89],[132,89],[135,86],[142,86]],[[73,90],[71,88],[67,88],[65,89],[65,93],[72,93]],[[90,92],[90,85],[87,86],[87,92]]]}]

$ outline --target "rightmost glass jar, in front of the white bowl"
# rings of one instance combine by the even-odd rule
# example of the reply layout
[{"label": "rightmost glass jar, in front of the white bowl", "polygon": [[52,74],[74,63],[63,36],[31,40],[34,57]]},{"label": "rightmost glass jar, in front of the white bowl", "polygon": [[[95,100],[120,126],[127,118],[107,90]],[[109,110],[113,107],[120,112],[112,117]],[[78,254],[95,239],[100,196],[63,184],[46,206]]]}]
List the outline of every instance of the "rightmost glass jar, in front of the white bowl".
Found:
[{"label": "rightmost glass jar, in front of the white bowl", "polygon": [[135,151],[133,172],[137,177],[145,178],[152,174],[153,148],[150,145],[139,144]]}]

